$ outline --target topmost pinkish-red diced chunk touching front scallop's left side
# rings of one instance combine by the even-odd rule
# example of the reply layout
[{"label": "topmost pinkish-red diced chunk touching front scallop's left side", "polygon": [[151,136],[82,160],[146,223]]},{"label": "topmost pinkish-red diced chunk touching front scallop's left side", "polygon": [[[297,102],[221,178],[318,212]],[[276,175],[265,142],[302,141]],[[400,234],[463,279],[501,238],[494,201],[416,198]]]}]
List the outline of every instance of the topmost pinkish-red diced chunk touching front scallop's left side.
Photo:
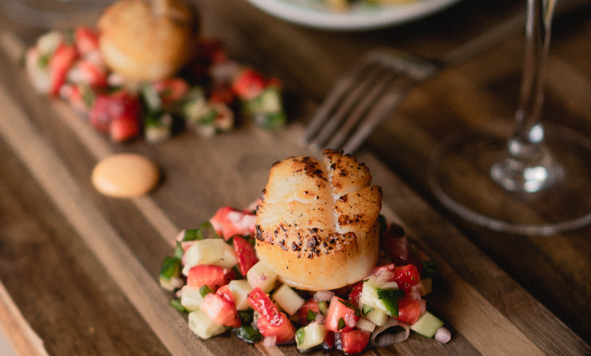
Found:
[{"label": "topmost pinkish-red diced chunk touching front scallop's left side", "polygon": [[209,219],[217,234],[224,240],[234,235],[253,235],[256,215],[238,211],[231,206],[224,206]]}]

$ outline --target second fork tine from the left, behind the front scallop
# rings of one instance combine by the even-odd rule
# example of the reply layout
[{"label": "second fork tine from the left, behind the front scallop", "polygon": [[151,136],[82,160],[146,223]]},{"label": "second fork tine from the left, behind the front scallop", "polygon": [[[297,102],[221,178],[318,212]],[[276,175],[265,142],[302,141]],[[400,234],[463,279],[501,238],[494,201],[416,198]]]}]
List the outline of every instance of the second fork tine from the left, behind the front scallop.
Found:
[{"label": "second fork tine from the left, behind the front scallop", "polygon": [[364,93],[372,87],[372,83],[382,73],[381,67],[370,66],[365,77],[358,82],[358,85],[353,86],[350,92],[346,93],[342,101],[336,106],[335,112],[328,116],[328,120],[320,132],[310,141],[310,147],[313,150],[320,148],[323,143],[335,132],[338,125],[343,121],[345,116],[355,107],[356,103],[363,98]]}]

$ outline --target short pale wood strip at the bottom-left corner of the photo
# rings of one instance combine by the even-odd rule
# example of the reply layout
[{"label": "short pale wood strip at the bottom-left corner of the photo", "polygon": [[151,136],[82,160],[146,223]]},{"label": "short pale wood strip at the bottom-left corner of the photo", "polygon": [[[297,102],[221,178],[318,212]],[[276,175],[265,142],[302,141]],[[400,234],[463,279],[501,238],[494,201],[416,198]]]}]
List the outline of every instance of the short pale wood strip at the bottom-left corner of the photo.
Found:
[{"label": "short pale wood strip at the bottom-left corner of the photo", "polygon": [[4,284],[0,281],[0,324],[8,341],[17,354],[44,356],[48,355],[43,340],[35,333],[22,316]]}]

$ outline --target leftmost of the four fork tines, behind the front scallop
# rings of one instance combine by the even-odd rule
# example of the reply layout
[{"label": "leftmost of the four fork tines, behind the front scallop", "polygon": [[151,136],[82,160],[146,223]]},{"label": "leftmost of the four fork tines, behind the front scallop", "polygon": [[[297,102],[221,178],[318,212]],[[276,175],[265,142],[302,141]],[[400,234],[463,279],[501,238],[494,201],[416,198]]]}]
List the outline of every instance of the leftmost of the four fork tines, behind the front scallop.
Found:
[{"label": "leftmost of the four fork tines, behind the front scallop", "polygon": [[356,82],[359,76],[368,68],[369,64],[366,61],[359,62],[347,76],[343,76],[337,80],[329,94],[324,99],[322,105],[317,109],[316,113],[310,119],[303,135],[303,143],[307,144],[320,130],[327,116],[333,111],[340,99],[345,95],[350,87]]}]

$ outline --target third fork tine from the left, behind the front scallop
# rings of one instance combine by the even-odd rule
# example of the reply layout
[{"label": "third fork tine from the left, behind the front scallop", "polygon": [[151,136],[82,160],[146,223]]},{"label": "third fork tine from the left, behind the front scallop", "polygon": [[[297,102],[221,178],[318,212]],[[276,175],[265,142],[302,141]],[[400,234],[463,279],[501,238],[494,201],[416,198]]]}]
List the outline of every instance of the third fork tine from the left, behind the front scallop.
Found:
[{"label": "third fork tine from the left, behind the front scallop", "polygon": [[349,132],[355,128],[355,125],[357,125],[358,122],[363,118],[363,114],[366,114],[369,107],[376,101],[378,96],[381,95],[386,88],[388,88],[396,76],[396,72],[389,72],[374,85],[374,88],[372,88],[359,102],[359,105],[353,109],[345,123],[339,128],[339,131],[337,131],[329,143],[326,144],[326,147],[330,147],[335,150],[338,150],[341,147]]}]

